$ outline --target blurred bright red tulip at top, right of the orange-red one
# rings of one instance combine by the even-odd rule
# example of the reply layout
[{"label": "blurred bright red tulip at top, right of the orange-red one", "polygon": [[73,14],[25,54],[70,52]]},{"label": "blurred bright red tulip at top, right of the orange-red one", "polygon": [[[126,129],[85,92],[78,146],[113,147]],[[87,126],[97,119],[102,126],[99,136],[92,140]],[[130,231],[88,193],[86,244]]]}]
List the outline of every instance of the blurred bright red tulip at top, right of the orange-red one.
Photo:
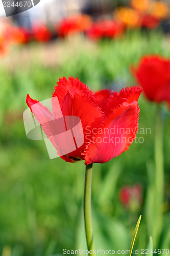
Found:
[{"label": "blurred bright red tulip at top, right of the orange-red one", "polygon": [[123,34],[125,27],[123,23],[116,20],[101,19],[97,23],[93,23],[92,27],[87,31],[89,38],[93,40],[102,37],[114,38]]}]

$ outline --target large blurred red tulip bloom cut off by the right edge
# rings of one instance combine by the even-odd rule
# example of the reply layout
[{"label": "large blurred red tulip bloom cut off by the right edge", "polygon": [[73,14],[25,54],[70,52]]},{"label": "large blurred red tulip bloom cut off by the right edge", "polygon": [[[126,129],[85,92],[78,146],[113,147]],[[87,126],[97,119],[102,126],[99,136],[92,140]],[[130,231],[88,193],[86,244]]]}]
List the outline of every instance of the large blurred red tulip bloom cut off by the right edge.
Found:
[{"label": "large blurred red tulip bloom cut off by the right edge", "polygon": [[170,104],[170,59],[158,55],[144,56],[132,73],[149,100]]}]

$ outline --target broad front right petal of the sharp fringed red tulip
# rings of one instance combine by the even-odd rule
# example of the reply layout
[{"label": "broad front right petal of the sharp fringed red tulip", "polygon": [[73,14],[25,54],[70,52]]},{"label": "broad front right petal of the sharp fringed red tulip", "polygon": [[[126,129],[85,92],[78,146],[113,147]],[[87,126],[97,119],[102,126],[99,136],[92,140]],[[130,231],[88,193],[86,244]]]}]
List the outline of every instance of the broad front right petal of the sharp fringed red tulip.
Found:
[{"label": "broad front right petal of the sharp fringed red tulip", "polygon": [[[103,122],[83,153],[85,164],[105,163],[126,150],[138,130],[139,106],[137,101],[124,102]],[[117,130],[118,129],[118,130]]]}]

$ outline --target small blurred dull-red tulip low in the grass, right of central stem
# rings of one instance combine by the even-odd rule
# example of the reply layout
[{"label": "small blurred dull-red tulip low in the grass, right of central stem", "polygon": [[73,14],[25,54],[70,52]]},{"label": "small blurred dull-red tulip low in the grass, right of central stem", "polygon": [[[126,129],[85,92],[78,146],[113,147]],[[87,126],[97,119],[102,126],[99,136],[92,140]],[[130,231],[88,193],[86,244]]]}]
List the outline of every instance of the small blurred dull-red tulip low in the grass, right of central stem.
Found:
[{"label": "small blurred dull-red tulip low in the grass, right of central stem", "polygon": [[142,203],[142,187],[139,184],[122,187],[119,199],[126,208],[138,210]]}]

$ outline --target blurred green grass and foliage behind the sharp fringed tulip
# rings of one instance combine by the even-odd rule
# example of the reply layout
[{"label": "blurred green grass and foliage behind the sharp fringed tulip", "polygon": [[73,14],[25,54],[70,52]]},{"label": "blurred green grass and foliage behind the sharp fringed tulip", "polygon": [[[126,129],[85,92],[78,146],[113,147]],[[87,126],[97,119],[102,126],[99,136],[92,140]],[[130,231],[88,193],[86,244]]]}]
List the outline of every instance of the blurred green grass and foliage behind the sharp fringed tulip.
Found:
[{"label": "blurred green grass and foliage behind the sharp fringed tulip", "polygon": [[[75,36],[48,44],[16,46],[0,60],[0,255],[47,256],[62,250],[86,249],[83,223],[83,161],[48,159],[43,141],[29,140],[22,113],[27,93],[39,101],[51,97],[60,77],[79,77],[90,90],[119,91],[133,86],[130,65],[143,54],[170,56],[170,39],[161,31],[129,31],[122,39],[90,42]],[[92,221],[96,248],[128,250],[139,215],[135,249],[147,246],[151,234],[149,207],[154,175],[154,119],[156,105],[139,98],[138,134],[144,142],[105,164],[93,165]],[[163,227],[155,248],[170,249],[170,118],[164,121],[165,203]],[[139,130],[140,131],[140,130]],[[142,141],[142,140],[141,140]],[[150,179],[151,178],[151,179]],[[125,206],[119,199],[123,186],[139,184],[142,201]],[[156,225],[156,223],[154,224]],[[155,253],[156,254],[156,253]],[[165,254],[165,253],[164,253]]]}]

